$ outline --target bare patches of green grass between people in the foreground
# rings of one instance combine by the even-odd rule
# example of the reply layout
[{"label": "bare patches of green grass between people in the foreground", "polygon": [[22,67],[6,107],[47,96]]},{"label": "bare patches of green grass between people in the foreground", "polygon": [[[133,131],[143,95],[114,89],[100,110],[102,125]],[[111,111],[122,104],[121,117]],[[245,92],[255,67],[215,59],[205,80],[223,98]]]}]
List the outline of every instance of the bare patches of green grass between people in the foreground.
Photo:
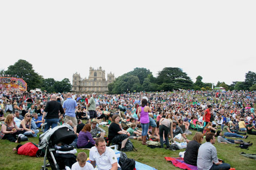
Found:
[{"label": "bare patches of green grass between people in the foreground", "polygon": [[[108,132],[107,127],[102,127],[106,132]],[[188,135],[188,139],[191,139],[196,131],[192,131],[193,135]],[[29,138],[29,141],[38,143],[37,138]],[[256,169],[256,161],[250,158],[246,158],[240,155],[241,152],[248,154],[256,153],[256,136],[249,135],[245,141],[251,141],[254,144],[249,150],[244,150],[236,148],[236,144],[223,144],[216,143],[218,157],[223,159],[226,163],[231,164],[231,167],[236,169]],[[164,157],[179,157],[179,151],[170,151],[165,149],[150,149],[145,145],[142,145],[140,141],[132,140],[134,147],[137,152],[126,152],[129,158],[133,158],[138,162],[145,163],[147,165],[153,166],[157,169],[179,169],[172,165],[172,163],[167,162]],[[205,142],[205,141],[204,141]],[[24,144],[26,142],[22,142]],[[0,140],[0,169],[40,169],[43,165],[43,158],[35,158],[29,156],[21,156],[13,153],[12,148],[16,147],[16,143],[11,143],[8,140]],[[86,152],[87,150],[77,150],[78,152]]]}]

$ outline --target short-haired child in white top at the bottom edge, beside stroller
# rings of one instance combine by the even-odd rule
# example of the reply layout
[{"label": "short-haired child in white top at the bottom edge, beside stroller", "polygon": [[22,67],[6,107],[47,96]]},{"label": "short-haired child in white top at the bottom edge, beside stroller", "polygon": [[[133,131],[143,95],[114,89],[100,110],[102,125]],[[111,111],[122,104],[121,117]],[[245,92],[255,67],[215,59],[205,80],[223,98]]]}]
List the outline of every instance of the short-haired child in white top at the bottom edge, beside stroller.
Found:
[{"label": "short-haired child in white top at the bottom edge, beside stroller", "polygon": [[87,154],[85,152],[79,152],[76,160],[77,162],[72,165],[71,170],[94,169],[93,165],[87,162]]}]

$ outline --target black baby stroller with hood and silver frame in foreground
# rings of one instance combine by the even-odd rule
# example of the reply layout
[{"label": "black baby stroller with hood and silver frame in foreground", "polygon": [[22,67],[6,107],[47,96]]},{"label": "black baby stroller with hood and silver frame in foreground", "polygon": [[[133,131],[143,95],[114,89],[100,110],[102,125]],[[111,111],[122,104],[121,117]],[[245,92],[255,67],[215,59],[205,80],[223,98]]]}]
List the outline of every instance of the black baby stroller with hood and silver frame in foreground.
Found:
[{"label": "black baby stroller with hood and silver frame in foreground", "polygon": [[[74,141],[76,135],[73,128],[68,124],[57,126],[46,131],[39,136],[38,149],[45,150],[44,166],[52,169],[65,169],[65,166],[71,166],[76,162],[76,149],[69,144]],[[61,143],[61,147],[56,144]],[[47,162],[48,160],[48,162]]]}]

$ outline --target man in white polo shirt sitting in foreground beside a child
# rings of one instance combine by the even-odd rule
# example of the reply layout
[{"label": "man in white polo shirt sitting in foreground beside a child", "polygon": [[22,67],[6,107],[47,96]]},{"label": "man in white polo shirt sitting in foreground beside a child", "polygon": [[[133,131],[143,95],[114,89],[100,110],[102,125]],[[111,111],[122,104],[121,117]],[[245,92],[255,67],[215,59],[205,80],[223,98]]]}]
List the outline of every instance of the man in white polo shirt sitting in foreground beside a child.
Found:
[{"label": "man in white polo shirt sitting in foreground beside a child", "polygon": [[121,170],[114,150],[106,147],[105,139],[99,137],[95,142],[96,146],[92,147],[89,154],[91,164],[94,167],[97,164],[98,170]]}]

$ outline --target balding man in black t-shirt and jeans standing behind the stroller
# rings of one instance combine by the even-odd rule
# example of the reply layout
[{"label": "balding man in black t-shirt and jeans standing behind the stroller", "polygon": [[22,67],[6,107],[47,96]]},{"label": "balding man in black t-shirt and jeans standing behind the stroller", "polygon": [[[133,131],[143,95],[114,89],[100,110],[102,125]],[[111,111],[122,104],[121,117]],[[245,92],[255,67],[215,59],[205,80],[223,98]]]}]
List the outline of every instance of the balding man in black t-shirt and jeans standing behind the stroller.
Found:
[{"label": "balding man in black t-shirt and jeans standing behind the stroller", "polygon": [[[59,122],[59,112],[60,114],[64,113],[64,109],[61,104],[57,102],[56,95],[51,96],[51,100],[47,102],[44,113],[42,113],[42,122],[47,123],[45,126],[45,131],[54,128],[58,125]],[[46,117],[45,117],[46,115]]]}]

